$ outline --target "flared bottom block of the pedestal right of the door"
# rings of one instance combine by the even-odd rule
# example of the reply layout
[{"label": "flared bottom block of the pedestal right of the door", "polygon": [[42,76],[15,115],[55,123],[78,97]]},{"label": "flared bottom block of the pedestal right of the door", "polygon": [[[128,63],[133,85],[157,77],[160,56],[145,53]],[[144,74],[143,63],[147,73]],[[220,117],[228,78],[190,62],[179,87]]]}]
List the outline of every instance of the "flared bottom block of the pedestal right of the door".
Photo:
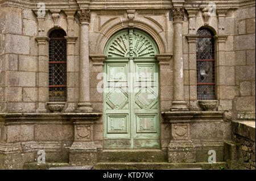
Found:
[{"label": "flared bottom block of the pedestal right of the door", "polygon": [[195,163],[196,150],[191,140],[171,140],[168,146],[168,162]]}]

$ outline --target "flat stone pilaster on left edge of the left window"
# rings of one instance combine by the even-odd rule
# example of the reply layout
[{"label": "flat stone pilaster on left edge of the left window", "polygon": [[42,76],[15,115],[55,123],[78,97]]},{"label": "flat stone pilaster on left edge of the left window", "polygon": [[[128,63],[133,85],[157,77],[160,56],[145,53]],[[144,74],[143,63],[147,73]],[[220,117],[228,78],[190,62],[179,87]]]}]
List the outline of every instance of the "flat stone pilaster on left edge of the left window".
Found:
[{"label": "flat stone pilaster on left edge of the left window", "polygon": [[47,112],[46,102],[48,101],[48,43],[46,36],[36,37],[38,41],[38,108],[36,112]]}]

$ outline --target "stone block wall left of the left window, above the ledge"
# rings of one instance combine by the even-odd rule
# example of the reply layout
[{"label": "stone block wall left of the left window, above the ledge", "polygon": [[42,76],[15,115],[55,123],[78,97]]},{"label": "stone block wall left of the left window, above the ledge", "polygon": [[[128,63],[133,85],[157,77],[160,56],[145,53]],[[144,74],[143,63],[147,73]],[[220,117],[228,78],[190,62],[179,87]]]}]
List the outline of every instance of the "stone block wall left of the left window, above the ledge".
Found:
[{"label": "stone block wall left of the left window, above the ledge", "polygon": [[38,99],[37,26],[31,10],[0,11],[0,111],[34,112]]}]

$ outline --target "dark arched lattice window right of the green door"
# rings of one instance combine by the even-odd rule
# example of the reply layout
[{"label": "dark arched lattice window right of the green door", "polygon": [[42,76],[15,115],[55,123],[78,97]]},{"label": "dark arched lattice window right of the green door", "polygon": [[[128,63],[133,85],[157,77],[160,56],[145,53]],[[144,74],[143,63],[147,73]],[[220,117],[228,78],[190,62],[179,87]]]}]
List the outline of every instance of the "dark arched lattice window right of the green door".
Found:
[{"label": "dark arched lattice window right of the green door", "polygon": [[214,100],[214,35],[205,28],[200,28],[197,35],[199,35],[196,43],[197,99]]}]

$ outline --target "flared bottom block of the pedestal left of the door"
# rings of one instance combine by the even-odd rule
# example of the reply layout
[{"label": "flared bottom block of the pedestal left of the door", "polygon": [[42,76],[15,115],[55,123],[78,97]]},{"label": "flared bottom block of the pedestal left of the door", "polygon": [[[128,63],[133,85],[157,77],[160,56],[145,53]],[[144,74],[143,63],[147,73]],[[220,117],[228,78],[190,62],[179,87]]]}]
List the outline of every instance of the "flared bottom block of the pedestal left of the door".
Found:
[{"label": "flared bottom block of the pedestal left of the door", "polygon": [[73,142],[69,149],[69,163],[71,165],[95,165],[97,162],[97,148],[92,142]]}]

